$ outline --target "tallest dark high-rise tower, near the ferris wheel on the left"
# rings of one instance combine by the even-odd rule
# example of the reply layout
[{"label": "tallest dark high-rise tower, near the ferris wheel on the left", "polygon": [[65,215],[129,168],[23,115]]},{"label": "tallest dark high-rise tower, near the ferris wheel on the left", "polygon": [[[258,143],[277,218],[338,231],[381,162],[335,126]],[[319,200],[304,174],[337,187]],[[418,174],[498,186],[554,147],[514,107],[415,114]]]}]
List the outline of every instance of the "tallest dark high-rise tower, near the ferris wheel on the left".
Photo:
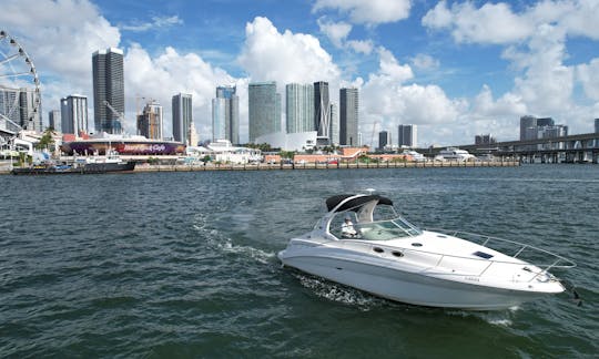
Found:
[{"label": "tallest dark high-rise tower, near the ferris wheel on the left", "polygon": [[95,51],[92,70],[95,131],[122,133],[125,109],[123,51],[115,48]]}]

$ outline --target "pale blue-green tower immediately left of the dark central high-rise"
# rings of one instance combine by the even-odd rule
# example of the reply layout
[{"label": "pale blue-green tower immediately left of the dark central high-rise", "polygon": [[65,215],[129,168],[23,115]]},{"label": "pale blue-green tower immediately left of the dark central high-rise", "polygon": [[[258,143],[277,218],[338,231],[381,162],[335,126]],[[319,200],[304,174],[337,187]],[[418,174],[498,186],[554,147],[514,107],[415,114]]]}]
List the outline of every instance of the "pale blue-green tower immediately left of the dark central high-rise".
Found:
[{"label": "pale blue-green tower immediately left of the dark central high-rise", "polygon": [[287,133],[315,131],[314,86],[288,83],[285,86]]}]

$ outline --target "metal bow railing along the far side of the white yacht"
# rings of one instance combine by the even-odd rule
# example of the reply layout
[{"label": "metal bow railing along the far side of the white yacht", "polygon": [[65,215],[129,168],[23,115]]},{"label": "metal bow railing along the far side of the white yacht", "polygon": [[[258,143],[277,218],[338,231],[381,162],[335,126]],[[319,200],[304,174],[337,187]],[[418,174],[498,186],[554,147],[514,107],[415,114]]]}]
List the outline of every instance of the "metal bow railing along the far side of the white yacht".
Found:
[{"label": "metal bow railing along the far side of the white yacht", "polygon": [[[438,233],[447,234],[447,235],[453,236],[453,237],[458,237],[458,238],[466,239],[466,240],[469,240],[469,242],[478,243],[481,246],[489,247],[489,248],[495,249],[495,250],[499,250],[499,252],[501,252],[504,254],[506,254],[505,253],[506,249],[510,249],[510,248],[501,247],[499,249],[496,249],[496,248],[494,248],[494,246],[497,245],[498,243],[499,244],[508,244],[508,245],[512,246],[511,249],[512,249],[514,254],[512,255],[506,254],[506,255],[508,255],[508,256],[510,256],[512,258],[520,259],[521,255],[524,255],[525,252],[526,252],[526,254],[528,254],[528,253],[535,254],[536,253],[536,254],[541,254],[545,257],[552,258],[552,261],[550,264],[534,264],[534,263],[531,263],[532,265],[535,265],[536,267],[541,269],[540,273],[537,273],[537,276],[548,271],[551,268],[567,269],[567,268],[576,267],[576,263],[572,261],[571,259],[568,259],[566,257],[557,255],[557,254],[555,254],[552,252],[549,252],[547,249],[535,247],[535,246],[531,246],[531,245],[528,245],[528,244],[525,244],[525,243],[520,243],[520,242],[517,242],[517,240],[499,238],[499,237],[494,237],[494,236],[487,236],[487,235],[481,235],[481,234],[476,234],[476,233],[465,232],[465,230],[455,230],[455,229],[426,228],[426,230],[438,232]],[[537,276],[532,277],[530,280],[535,279]]]}]

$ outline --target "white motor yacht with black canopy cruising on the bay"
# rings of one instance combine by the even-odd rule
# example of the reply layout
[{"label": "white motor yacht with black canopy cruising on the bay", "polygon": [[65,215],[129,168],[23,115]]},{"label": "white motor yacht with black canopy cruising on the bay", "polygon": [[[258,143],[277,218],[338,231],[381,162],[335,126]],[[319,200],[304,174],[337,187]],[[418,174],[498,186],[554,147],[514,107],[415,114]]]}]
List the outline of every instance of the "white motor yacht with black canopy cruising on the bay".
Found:
[{"label": "white motor yacht with black canopy cruising on the bay", "polygon": [[283,265],[392,300],[505,309],[562,293],[565,287],[548,270],[576,266],[527,244],[423,230],[379,195],[337,195],[326,206],[328,213],[312,232],[291,239],[278,253]]}]

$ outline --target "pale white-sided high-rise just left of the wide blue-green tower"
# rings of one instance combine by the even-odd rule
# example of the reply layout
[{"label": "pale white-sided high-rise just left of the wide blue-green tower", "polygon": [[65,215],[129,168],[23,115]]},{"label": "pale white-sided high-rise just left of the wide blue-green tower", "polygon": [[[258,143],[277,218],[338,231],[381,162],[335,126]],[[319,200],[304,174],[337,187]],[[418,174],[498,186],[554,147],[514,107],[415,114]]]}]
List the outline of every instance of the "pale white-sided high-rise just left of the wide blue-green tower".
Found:
[{"label": "pale white-sided high-rise just left of the wide blue-green tower", "polygon": [[212,99],[212,141],[229,140],[240,143],[240,98],[235,86],[216,88]]}]

